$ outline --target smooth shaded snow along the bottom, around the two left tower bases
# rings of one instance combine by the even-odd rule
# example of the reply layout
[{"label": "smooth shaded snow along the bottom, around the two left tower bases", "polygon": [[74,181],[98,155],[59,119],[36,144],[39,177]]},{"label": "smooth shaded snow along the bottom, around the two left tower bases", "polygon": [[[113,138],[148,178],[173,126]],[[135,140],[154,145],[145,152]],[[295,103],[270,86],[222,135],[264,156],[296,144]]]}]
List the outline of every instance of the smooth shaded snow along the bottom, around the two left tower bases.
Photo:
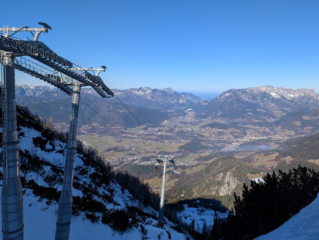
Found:
[{"label": "smooth shaded snow along the bottom, around the two left tower bases", "polygon": [[[0,188],[1,190],[1,188]],[[27,189],[23,197],[23,215],[24,215],[24,239],[25,240],[44,240],[54,239],[56,229],[56,211],[57,203],[48,206],[45,200],[38,201],[39,197],[34,196],[32,190]],[[0,215],[0,221],[1,215]],[[158,234],[162,234],[161,239],[168,239],[165,230],[145,225],[148,230],[147,236],[150,239],[157,240]],[[72,216],[70,240],[88,240],[88,239],[114,239],[114,240],[140,240],[140,228],[133,228],[123,235],[113,231],[108,225],[102,223],[92,223],[85,219],[85,215]],[[167,228],[169,229],[169,228]],[[171,230],[171,229],[169,229]],[[171,239],[185,239],[185,236],[171,231]]]}]

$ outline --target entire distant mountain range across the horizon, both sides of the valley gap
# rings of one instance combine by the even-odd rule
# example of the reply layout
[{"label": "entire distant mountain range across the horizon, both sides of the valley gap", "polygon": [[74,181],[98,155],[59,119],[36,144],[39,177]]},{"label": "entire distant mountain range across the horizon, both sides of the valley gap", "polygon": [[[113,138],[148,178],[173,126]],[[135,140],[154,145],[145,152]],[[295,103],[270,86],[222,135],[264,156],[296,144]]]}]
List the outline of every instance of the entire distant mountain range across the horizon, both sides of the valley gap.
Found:
[{"label": "entire distant mountain range across the horizon, both sides of the valley gap", "polygon": [[[184,110],[192,108],[197,119],[223,120],[231,127],[263,126],[274,132],[293,131],[296,136],[319,133],[319,95],[310,89],[293,90],[269,85],[231,89],[211,101],[201,101],[201,98],[191,93],[179,93],[172,88],[141,87],[113,91],[124,104],[134,109],[144,123],[157,124],[172,116],[185,115]],[[134,120],[126,116],[126,110],[122,109],[123,106],[115,97],[102,99],[92,88],[82,88],[81,97],[108,113],[108,119],[114,120],[118,124],[116,126],[137,126]],[[63,118],[61,111],[55,108],[71,104],[70,100],[61,100],[69,98],[65,93],[47,86],[17,85],[16,98],[18,104],[28,105],[33,112],[42,118],[52,119],[53,123],[61,123]],[[48,105],[54,107],[48,110]],[[106,106],[112,109],[112,114]],[[69,113],[65,114],[67,123]],[[83,124],[93,123],[88,117],[83,116],[82,119],[86,119]]]}]

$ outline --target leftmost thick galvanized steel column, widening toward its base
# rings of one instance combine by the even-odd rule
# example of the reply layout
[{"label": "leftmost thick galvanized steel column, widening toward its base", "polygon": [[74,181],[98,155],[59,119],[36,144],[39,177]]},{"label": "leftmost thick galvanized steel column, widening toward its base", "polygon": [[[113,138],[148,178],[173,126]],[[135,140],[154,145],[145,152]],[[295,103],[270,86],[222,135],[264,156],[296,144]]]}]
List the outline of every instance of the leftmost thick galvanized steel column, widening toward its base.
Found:
[{"label": "leftmost thick galvanized steel column, widening toward its base", "polygon": [[[23,240],[23,201],[19,168],[19,138],[15,98],[14,58],[4,62],[7,95],[6,149],[3,149],[2,233],[4,240]],[[4,139],[5,140],[5,139]]]}]

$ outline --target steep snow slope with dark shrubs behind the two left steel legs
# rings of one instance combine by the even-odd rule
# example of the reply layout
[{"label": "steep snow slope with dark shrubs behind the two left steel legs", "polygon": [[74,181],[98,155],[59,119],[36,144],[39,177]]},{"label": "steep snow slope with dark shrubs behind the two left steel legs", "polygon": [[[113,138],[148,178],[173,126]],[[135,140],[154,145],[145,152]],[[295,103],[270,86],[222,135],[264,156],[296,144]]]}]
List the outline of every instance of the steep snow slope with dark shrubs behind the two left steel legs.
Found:
[{"label": "steep snow slope with dark shrubs behind the two left steel legs", "polygon": [[[20,161],[22,162],[20,174],[26,179],[26,182],[35,182],[37,185],[44,187],[53,187],[57,190],[61,189],[62,173],[56,171],[55,166],[58,159],[63,159],[63,152],[66,144],[56,139],[45,139],[41,132],[30,128],[21,127],[19,130],[20,138]],[[43,138],[48,140],[42,150],[34,144],[34,138]],[[1,149],[0,149],[1,150]],[[33,156],[32,161],[39,161],[38,167],[33,166],[31,160],[27,160],[26,156]],[[96,180],[93,179],[92,173],[96,172],[96,168],[88,166],[83,161],[84,156],[77,154],[75,167],[79,169],[76,173],[76,186],[81,188],[88,187],[92,189],[93,199],[102,203],[110,212],[128,207],[136,207],[139,214],[136,214],[137,223],[132,228],[126,230],[123,234],[115,231],[101,222],[102,214],[97,212],[98,220],[91,222],[87,218],[87,211],[79,211],[77,215],[72,215],[70,226],[70,240],[87,240],[87,239],[168,239],[168,232],[171,239],[185,239],[185,236],[170,228],[174,224],[167,219],[165,230],[157,228],[156,216],[158,212],[149,206],[143,206],[136,200],[126,189],[123,189],[116,181],[110,180],[109,184],[101,184],[98,186]],[[29,161],[29,162],[28,162]],[[41,163],[40,163],[41,162]],[[2,171],[2,168],[1,168]],[[82,171],[82,173],[81,173]],[[1,174],[2,176],[2,174]],[[32,181],[33,180],[33,181]],[[0,180],[2,188],[2,180]],[[26,240],[43,240],[54,239],[56,229],[56,211],[58,204],[55,200],[48,200],[43,196],[36,196],[33,189],[24,188],[23,205],[24,205],[24,239]],[[94,191],[93,191],[94,190]],[[1,191],[1,189],[0,189]],[[84,190],[73,187],[73,196],[83,197]],[[87,189],[85,190],[87,191]],[[102,199],[100,196],[105,196]],[[110,200],[112,199],[112,200]],[[144,215],[145,213],[145,215]],[[1,216],[0,216],[1,221]],[[143,229],[141,229],[141,226]],[[144,228],[146,230],[144,230]]]}]

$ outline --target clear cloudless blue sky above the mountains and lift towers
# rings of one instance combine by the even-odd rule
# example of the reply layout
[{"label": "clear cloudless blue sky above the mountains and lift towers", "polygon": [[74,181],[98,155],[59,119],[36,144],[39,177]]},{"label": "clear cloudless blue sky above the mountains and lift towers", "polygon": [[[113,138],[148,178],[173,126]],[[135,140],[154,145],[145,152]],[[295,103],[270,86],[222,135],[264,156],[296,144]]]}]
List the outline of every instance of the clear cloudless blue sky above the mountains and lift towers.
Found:
[{"label": "clear cloudless blue sky above the mountains and lift towers", "polygon": [[[82,67],[107,66],[100,76],[110,88],[217,92],[273,85],[319,92],[318,0],[6,5],[2,26],[48,23],[52,30],[39,40]],[[16,84],[45,83],[17,72]]]}]

